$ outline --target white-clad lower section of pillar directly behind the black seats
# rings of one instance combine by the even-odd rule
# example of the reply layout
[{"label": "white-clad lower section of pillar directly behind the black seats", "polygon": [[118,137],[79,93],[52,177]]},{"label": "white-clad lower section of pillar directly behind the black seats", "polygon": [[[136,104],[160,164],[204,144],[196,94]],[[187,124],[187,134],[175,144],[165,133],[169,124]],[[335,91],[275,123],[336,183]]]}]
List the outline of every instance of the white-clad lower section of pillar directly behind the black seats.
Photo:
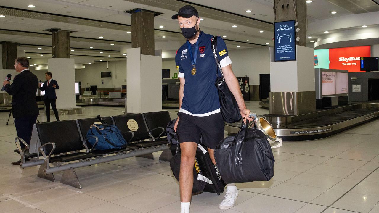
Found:
[{"label": "white-clad lower section of pillar directly behind the black seats", "polygon": [[162,110],[162,58],[127,49],[127,113]]}]

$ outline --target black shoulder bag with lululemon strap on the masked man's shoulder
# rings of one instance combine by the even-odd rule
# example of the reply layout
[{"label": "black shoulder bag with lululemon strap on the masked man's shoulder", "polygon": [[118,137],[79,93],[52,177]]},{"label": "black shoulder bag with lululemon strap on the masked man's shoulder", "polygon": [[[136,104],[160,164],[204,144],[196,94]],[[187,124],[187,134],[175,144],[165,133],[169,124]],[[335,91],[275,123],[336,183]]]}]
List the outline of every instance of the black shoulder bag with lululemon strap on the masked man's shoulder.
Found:
[{"label": "black shoulder bag with lululemon strap on the masked man's shoulder", "polygon": [[[218,89],[218,99],[220,101],[221,115],[225,122],[234,123],[241,120],[240,108],[238,108],[237,101],[228,85],[225,82],[224,75],[222,74],[222,69],[220,62],[217,58],[217,36],[213,36],[211,40],[213,56],[215,57],[217,64],[217,78],[215,81],[215,86]],[[218,71],[221,73],[221,77],[218,76]]]}]

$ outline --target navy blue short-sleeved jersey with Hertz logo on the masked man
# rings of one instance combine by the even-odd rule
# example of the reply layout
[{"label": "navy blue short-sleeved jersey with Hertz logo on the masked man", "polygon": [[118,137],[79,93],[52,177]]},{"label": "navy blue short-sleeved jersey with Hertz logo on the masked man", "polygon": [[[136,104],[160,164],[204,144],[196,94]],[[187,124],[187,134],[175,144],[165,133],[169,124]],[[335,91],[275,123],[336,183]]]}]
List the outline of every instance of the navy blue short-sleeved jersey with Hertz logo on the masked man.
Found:
[{"label": "navy blue short-sleeved jersey with Hertz logo on the masked man", "polygon": [[[210,34],[201,32],[196,41],[199,43],[197,50],[195,50],[196,43],[191,44],[193,55],[195,55],[195,51],[197,52],[195,75],[191,74],[192,63],[187,44],[183,44],[176,52],[175,63],[176,69],[179,71],[178,77],[185,79],[184,97],[182,107],[179,110],[183,113],[207,116],[219,112],[220,103],[215,81],[217,73],[218,75],[221,74],[218,72],[212,52],[212,37]],[[220,37],[217,39],[216,53],[221,67],[232,63],[228,56],[226,44]]]}]

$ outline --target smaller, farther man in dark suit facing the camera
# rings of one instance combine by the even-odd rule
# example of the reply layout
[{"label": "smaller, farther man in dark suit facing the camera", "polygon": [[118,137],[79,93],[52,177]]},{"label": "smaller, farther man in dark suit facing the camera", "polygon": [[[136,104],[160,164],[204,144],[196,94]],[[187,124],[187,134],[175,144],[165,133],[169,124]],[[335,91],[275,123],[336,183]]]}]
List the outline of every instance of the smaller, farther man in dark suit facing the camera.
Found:
[{"label": "smaller, farther man in dark suit facing the camera", "polygon": [[50,122],[50,104],[51,104],[51,108],[53,108],[56,120],[59,121],[58,110],[56,110],[56,105],[55,105],[55,101],[56,101],[55,90],[59,89],[59,86],[58,86],[58,82],[56,82],[56,80],[53,80],[51,77],[52,77],[52,73],[46,72],[45,78],[47,81],[44,82],[44,85],[42,87],[41,87],[41,83],[39,83],[38,85],[39,90],[45,91],[44,103],[45,103],[45,108],[46,108],[47,122]]}]

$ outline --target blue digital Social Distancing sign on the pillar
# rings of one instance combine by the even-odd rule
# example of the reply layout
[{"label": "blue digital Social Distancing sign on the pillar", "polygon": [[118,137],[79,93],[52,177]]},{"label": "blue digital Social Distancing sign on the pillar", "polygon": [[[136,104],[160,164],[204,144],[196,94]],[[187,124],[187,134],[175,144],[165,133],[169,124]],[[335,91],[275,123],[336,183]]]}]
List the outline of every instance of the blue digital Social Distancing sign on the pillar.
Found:
[{"label": "blue digital Social Distancing sign on the pillar", "polygon": [[275,61],[296,60],[295,21],[275,22]]}]

